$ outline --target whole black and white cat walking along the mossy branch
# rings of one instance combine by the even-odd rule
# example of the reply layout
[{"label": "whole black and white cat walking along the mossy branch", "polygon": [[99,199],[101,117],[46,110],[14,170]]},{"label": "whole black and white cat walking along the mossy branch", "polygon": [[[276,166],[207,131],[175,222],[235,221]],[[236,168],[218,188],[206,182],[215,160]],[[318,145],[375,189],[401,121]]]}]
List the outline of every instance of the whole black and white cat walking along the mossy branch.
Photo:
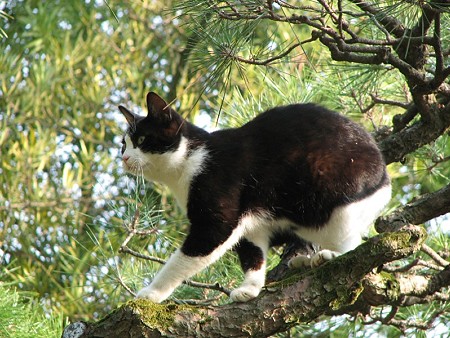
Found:
[{"label": "whole black and white cat walking along the mossy branch", "polygon": [[234,248],[245,279],[233,301],[258,296],[266,255],[279,234],[320,245],[292,267],[318,266],[354,249],[391,197],[386,165],[372,137],[313,104],[270,109],[236,129],[208,133],[157,94],[148,114],[119,106],[128,121],[126,170],[166,184],[190,230],[138,297],[159,303],[184,280]]}]

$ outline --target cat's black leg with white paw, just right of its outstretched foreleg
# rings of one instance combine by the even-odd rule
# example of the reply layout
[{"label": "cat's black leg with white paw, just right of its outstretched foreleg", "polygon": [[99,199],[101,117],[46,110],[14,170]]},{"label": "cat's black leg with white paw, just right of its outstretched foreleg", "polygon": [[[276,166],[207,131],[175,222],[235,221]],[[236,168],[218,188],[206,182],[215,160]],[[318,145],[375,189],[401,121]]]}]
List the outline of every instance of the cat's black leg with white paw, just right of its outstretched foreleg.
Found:
[{"label": "cat's black leg with white paw, just right of its outstretched foreleg", "polygon": [[247,302],[257,297],[264,286],[269,239],[264,236],[258,237],[245,238],[235,247],[245,277],[242,284],[230,294],[234,302]]}]

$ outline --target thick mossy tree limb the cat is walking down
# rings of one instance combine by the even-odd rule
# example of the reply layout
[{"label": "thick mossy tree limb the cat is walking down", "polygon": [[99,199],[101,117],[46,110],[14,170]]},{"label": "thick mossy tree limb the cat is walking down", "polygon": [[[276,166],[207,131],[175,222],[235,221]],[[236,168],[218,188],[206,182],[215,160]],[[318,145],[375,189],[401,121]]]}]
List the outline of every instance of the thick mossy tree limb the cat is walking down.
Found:
[{"label": "thick mossy tree limb the cat is walking down", "polygon": [[367,274],[413,254],[424,240],[424,229],[413,226],[381,234],[317,269],[267,285],[248,303],[193,307],[132,301],[72,337],[267,337],[357,304]]}]

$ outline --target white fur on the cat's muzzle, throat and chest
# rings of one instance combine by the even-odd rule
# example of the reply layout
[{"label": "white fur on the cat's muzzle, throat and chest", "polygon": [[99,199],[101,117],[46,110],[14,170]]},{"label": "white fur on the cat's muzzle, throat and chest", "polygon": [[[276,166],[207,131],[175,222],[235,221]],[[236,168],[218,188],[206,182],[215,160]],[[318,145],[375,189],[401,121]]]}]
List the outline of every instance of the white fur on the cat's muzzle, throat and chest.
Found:
[{"label": "white fur on the cat's muzzle, throat and chest", "polygon": [[128,135],[123,157],[130,156],[126,169],[135,175],[144,175],[149,181],[161,182],[169,187],[178,204],[187,210],[187,198],[192,179],[202,171],[208,151],[205,147],[188,151],[188,140],[181,137],[175,151],[163,154],[144,153],[133,148]]}]

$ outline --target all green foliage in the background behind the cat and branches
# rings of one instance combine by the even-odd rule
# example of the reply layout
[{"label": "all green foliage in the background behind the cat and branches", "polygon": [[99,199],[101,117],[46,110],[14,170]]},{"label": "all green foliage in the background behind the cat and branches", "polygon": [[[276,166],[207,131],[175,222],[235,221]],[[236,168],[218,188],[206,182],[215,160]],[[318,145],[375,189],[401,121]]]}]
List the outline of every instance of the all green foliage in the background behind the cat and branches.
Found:
[{"label": "all green foliage in the background behind the cat and branches", "polygon": [[[240,1],[239,13],[252,13],[259,3],[266,2]],[[306,14],[322,15],[317,4],[297,5]],[[365,37],[382,39],[383,16],[410,25],[420,17],[418,4],[379,1],[374,6],[383,10],[376,16],[349,20]],[[356,8],[348,6],[348,12]],[[378,132],[404,109],[371,103],[411,99],[393,67],[330,61],[318,41],[302,44],[311,39],[311,28],[262,16],[226,21],[214,10],[212,2],[199,0],[0,5],[0,276],[21,290],[0,287],[0,330],[14,328],[20,337],[33,327],[36,336],[59,336],[63,318],[103,316],[160,267],[120,251],[130,227],[146,236],[130,237],[127,247],[160,260],[186,232],[187,220],[164,187],[124,175],[119,149],[125,121],[117,104],[133,102],[139,106],[134,110],[142,110],[145,93],[155,90],[176,99],[173,105],[190,120],[209,117],[221,127],[234,127],[275,105],[316,102]],[[297,13],[283,10],[274,8],[278,15]],[[444,50],[450,47],[449,22],[441,23]],[[427,65],[427,71],[433,73],[435,66]],[[449,142],[442,136],[390,166],[391,210],[449,183]],[[140,217],[134,222],[136,210]],[[441,223],[426,225],[434,234],[428,245],[448,253],[448,229]],[[277,262],[275,254],[272,266]],[[241,278],[236,257],[227,255],[195,278],[232,287]],[[204,301],[221,295],[183,286],[174,297]],[[43,310],[31,306],[37,303]],[[450,310],[437,306],[417,305],[400,315],[427,321],[442,311],[442,330]],[[33,326],[31,319],[42,326]],[[348,317],[301,330],[305,337],[319,332],[400,336],[396,329]]]}]

